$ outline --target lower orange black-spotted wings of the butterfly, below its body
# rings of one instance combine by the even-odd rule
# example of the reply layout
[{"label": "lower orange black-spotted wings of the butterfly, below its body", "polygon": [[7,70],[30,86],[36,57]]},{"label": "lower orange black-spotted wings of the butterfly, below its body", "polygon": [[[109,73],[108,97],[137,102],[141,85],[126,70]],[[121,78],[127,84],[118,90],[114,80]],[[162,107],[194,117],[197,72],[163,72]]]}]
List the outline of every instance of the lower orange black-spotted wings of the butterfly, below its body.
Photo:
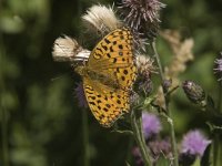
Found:
[{"label": "lower orange black-spotted wings of the butterfly, below its body", "polygon": [[129,111],[128,92],[113,90],[87,77],[83,87],[89,107],[102,126],[110,127],[123,112]]}]

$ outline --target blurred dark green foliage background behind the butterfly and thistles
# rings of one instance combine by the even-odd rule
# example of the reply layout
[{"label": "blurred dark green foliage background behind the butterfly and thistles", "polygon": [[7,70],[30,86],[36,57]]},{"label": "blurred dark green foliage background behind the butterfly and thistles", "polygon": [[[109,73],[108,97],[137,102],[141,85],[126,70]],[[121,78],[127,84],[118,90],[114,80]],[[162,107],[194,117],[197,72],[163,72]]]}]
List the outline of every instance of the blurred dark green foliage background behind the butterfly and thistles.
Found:
[{"label": "blurred dark green foliage background behind the butterfly and thistles", "polygon": [[[113,4],[111,0],[99,2]],[[161,29],[180,30],[184,38],[194,39],[195,60],[180,79],[194,80],[219,102],[213,61],[222,51],[222,1],[162,2],[167,8],[161,12]],[[62,34],[88,42],[80,15],[94,3],[98,1],[0,0],[0,165],[6,158],[11,166],[83,165],[85,113],[91,165],[125,165],[131,138],[102,128],[89,111],[78,108],[74,89],[80,77],[68,63],[54,62],[51,55],[53,41]],[[167,65],[170,53],[162,40],[158,42]],[[206,117],[181,89],[171,108],[179,139],[191,128],[208,132]]]}]

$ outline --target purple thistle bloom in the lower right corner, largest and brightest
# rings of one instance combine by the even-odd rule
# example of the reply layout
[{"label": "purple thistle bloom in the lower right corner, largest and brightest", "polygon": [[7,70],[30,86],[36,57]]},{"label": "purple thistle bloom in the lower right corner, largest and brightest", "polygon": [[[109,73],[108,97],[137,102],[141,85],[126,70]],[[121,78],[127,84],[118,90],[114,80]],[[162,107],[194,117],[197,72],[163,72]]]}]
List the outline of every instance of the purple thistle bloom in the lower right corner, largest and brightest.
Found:
[{"label": "purple thistle bloom in the lower right corner, largest and brightest", "polygon": [[202,157],[209,144],[211,144],[211,141],[206,139],[200,131],[191,131],[182,139],[181,154]]}]

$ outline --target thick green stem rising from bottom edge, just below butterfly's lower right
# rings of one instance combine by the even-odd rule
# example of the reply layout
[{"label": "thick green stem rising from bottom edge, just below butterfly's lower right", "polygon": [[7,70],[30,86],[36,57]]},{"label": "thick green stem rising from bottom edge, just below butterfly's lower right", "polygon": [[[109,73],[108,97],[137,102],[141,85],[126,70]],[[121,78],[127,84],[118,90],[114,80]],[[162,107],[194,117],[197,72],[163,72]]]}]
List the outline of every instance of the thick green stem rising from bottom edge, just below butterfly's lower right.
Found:
[{"label": "thick green stem rising from bottom edge, just below butterfly's lower right", "polygon": [[135,142],[138,144],[138,147],[140,148],[142,158],[143,158],[143,163],[145,166],[151,166],[152,162],[150,158],[150,154],[148,152],[148,147],[147,144],[144,142],[144,137],[143,134],[141,135],[141,115],[139,117],[135,117],[134,115],[134,111],[131,112],[131,125],[132,125],[132,131],[133,131],[133,135],[135,138]]}]

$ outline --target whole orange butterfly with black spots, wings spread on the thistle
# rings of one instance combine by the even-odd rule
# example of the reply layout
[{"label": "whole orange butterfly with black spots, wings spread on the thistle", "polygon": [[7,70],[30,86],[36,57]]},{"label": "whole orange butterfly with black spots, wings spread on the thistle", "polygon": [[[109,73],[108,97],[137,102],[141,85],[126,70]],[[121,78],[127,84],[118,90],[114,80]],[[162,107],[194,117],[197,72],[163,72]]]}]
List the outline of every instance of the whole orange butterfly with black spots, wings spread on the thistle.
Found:
[{"label": "whole orange butterfly with black spots, wings spread on the thistle", "polygon": [[129,112],[130,92],[137,77],[131,31],[128,28],[111,31],[75,71],[82,76],[92,114],[102,126],[112,126]]}]

